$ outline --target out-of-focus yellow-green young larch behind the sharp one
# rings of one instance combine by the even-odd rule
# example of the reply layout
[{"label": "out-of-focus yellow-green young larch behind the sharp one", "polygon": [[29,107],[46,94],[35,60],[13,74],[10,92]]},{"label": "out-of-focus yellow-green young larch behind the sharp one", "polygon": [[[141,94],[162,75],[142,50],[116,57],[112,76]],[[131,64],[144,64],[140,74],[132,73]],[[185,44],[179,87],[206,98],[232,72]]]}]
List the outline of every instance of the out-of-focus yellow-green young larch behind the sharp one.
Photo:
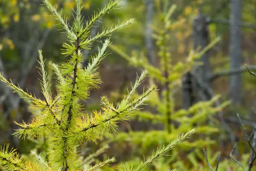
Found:
[{"label": "out-of-focus yellow-green young larch behind the sharp one", "polygon": [[[158,60],[159,65],[154,66],[150,64],[141,53],[141,55],[128,55],[122,52],[115,45],[111,45],[111,49],[125,58],[132,66],[142,67],[149,71],[150,84],[153,84],[153,80],[156,80],[159,84],[162,84],[164,90],[159,95],[157,91],[153,91],[149,95],[148,103],[152,108],[157,109],[157,113],[151,113],[150,111],[134,111],[134,114],[138,115],[138,118],[142,121],[152,122],[160,125],[165,125],[164,130],[148,130],[148,131],[132,131],[128,133],[119,133],[117,136],[112,136],[113,141],[128,141],[140,145],[143,149],[143,153],[152,145],[160,145],[164,142],[170,142],[173,138],[177,137],[177,133],[181,133],[187,128],[196,127],[197,132],[201,136],[208,136],[212,133],[218,132],[218,123],[212,117],[214,114],[221,111],[229,102],[224,102],[218,107],[214,107],[215,101],[220,98],[219,95],[213,97],[209,101],[201,101],[188,110],[181,109],[175,110],[174,94],[177,88],[181,84],[182,76],[192,69],[196,63],[196,59],[200,58],[209,48],[211,48],[219,39],[216,38],[206,48],[200,52],[190,51],[186,61],[179,61],[177,63],[172,62],[172,55],[170,53],[170,46],[172,45],[172,28],[179,21],[173,21],[171,15],[175,10],[175,6],[172,6],[169,11],[159,15],[157,24],[152,26],[154,34],[152,35],[156,41],[159,49]],[[207,123],[211,120],[213,123]],[[172,121],[178,122],[177,127],[171,124]],[[215,122],[215,124],[214,124]],[[193,142],[186,142],[180,144],[180,148],[184,150],[190,150],[192,148],[202,149],[205,145],[213,144],[215,140],[196,138]],[[178,150],[180,152],[180,149]],[[172,157],[169,161],[175,161],[178,159],[178,151],[172,152]],[[182,159],[181,159],[182,160]],[[186,159],[184,159],[186,160]]]}]

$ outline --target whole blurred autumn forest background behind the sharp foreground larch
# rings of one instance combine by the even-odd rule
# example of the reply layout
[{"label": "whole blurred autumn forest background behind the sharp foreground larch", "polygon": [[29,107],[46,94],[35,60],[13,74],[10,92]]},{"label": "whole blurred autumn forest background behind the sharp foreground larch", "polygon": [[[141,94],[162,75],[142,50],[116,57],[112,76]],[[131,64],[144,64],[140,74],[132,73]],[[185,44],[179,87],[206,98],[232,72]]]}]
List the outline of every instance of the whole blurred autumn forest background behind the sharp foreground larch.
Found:
[{"label": "whole blurred autumn forest background behind the sharp foreground larch", "polygon": [[[74,0],[51,2],[58,5],[70,21],[73,20]],[[82,0],[84,20],[106,3],[108,0]],[[56,21],[49,17],[49,11],[40,4],[41,0],[0,0],[0,72],[6,78],[12,78],[21,88],[27,88],[43,98],[38,80],[38,49],[42,49],[47,58],[50,74],[52,63],[67,59],[60,54],[66,37],[57,30],[61,27],[55,25]],[[169,24],[164,16],[171,12]],[[90,34],[96,35],[103,26],[109,27],[131,17],[137,20],[134,26],[111,35],[110,54],[98,69],[103,83],[99,90],[91,92],[84,107],[88,113],[100,109],[101,96],[118,101],[142,68],[150,71],[150,78],[143,86],[155,82],[159,91],[151,96],[150,105],[137,113],[138,117],[131,122],[120,123],[120,134],[116,138],[109,137],[98,145],[82,145],[84,155],[93,154],[103,145],[91,159],[107,155],[115,156],[118,162],[131,160],[136,163],[137,158],[140,161],[143,154],[148,153],[147,149],[171,141],[187,128],[198,127],[198,134],[189,140],[191,143],[178,147],[178,152],[172,152],[172,157],[165,163],[171,163],[180,170],[206,170],[208,166],[203,148],[207,149],[209,162],[214,164],[218,151],[221,159],[229,158],[230,151],[239,142],[239,148],[234,153],[246,164],[251,148],[244,140],[240,122],[248,133],[252,133],[256,126],[256,110],[253,108],[256,107],[256,78],[248,72],[248,69],[256,70],[256,0],[122,0],[120,9],[113,10],[96,22]],[[165,39],[168,44],[163,41]],[[97,43],[92,49],[84,50],[84,66],[97,52],[97,46],[102,44]],[[198,50],[205,47],[207,50],[195,61],[188,60],[193,50],[200,52]],[[164,54],[171,60],[163,61]],[[186,62],[189,64],[186,65]],[[168,66],[163,69],[166,63]],[[169,78],[170,85],[157,75],[160,72],[163,72],[163,77]],[[53,75],[53,94],[54,80]],[[164,94],[166,92],[167,95]],[[161,104],[166,104],[166,108]],[[157,117],[159,113],[166,114],[167,124],[166,118]],[[24,156],[32,148],[43,148],[44,144],[34,139],[24,141],[12,136],[14,129],[17,129],[14,120],[29,122],[34,115],[35,111],[24,99],[0,83],[0,145],[9,142]],[[143,139],[143,136],[146,138]],[[256,133],[253,140],[256,141]],[[224,162],[223,168],[235,169],[233,165],[236,164],[230,163]],[[158,162],[154,169],[162,170],[164,166]]]}]

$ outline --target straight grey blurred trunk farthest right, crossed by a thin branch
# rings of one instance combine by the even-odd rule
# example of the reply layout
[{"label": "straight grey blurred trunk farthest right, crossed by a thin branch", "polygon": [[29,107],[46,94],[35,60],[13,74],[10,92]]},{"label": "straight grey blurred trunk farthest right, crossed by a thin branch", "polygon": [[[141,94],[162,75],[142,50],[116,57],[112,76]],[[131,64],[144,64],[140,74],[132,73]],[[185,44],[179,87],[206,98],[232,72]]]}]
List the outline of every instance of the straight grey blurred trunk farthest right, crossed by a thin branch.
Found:
[{"label": "straight grey blurred trunk farthest right, crossed by a thin branch", "polygon": [[[241,0],[230,1],[230,70],[241,67]],[[241,103],[241,74],[230,76],[230,99],[233,104]]]}]

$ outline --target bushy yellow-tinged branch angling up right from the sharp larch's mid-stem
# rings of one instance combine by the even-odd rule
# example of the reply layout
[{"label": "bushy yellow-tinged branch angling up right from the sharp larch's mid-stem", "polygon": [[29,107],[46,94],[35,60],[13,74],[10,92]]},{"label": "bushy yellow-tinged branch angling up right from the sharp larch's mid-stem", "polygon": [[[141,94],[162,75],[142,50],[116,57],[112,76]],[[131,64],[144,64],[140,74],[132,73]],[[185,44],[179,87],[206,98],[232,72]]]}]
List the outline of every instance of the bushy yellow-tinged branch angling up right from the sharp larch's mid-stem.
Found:
[{"label": "bushy yellow-tinged branch angling up right from the sharp larch's mid-stem", "polygon": [[[138,79],[140,80],[140,79]],[[100,139],[102,133],[105,134],[113,131],[115,133],[115,122],[119,119],[125,119],[125,117],[130,116],[134,110],[137,110],[140,105],[147,99],[149,93],[153,90],[156,90],[156,86],[152,85],[145,93],[139,96],[133,102],[130,102],[131,99],[125,99],[121,101],[116,108],[105,106],[102,108],[104,113],[94,113],[92,118],[88,116],[83,120],[79,119],[77,121],[79,128],[76,128],[71,131],[70,137],[73,139],[90,139],[95,141]]]}]

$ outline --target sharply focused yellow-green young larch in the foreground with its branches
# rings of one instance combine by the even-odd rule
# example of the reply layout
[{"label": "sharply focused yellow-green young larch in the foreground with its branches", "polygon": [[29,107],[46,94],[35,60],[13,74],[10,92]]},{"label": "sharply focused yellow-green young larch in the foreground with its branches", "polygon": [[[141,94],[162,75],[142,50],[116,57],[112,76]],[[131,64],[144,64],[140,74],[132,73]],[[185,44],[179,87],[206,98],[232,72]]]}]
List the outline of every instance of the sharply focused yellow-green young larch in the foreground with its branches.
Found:
[{"label": "sharply focused yellow-green young larch in the foreground with its branches", "polygon": [[[61,17],[61,14],[58,13],[49,0],[43,0],[43,3],[53,13],[55,19],[62,25],[68,40],[67,43],[63,44],[62,54],[70,56],[70,59],[67,63],[52,64],[58,80],[56,83],[56,96],[52,96],[49,91],[50,84],[47,79],[47,72],[44,69],[41,50],[39,50],[39,63],[42,75],[41,92],[44,95],[44,99],[38,99],[35,95],[27,93],[0,74],[1,81],[19,93],[20,96],[26,98],[35,110],[41,112],[40,115],[35,116],[31,123],[15,122],[20,128],[16,130],[14,135],[22,139],[26,137],[47,138],[45,143],[49,147],[47,149],[49,152],[44,154],[43,157],[38,155],[36,150],[31,151],[31,155],[38,161],[37,164],[31,164],[32,162],[21,158],[13,149],[8,151],[9,145],[1,147],[0,165],[6,171],[75,171],[81,169],[90,171],[114,162],[115,158],[108,158],[101,162],[96,162],[93,166],[89,165],[88,158],[81,159],[80,157],[79,144],[84,141],[96,142],[96,140],[101,140],[103,136],[116,133],[117,122],[128,119],[132,112],[144,104],[145,100],[148,99],[148,95],[156,90],[156,86],[152,84],[142,95],[134,98],[137,87],[148,74],[148,71],[143,70],[142,74],[137,77],[128,96],[122,99],[117,106],[113,106],[106,97],[102,97],[102,110],[93,111],[91,114],[84,112],[81,100],[84,101],[89,98],[91,89],[99,88],[101,80],[99,72],[97,72],[97,66],[107,55],[105,50],[110,41],[109,39],[105,40],[102,48],[99,48],[99,53],[92,58],[91,63],[85,68],[81,64],[83,61],[82,49],[89,49],[93,41],[130,26],[135,23],[135,20],[130,19],[111,28],[103,29],[103,32],[90,37],[90,28],[92,28],[93,23],[99,20],[103,14],[114,9],[120,0],[110,0],[104,9],[96,12],[85,23],[85,26],[80,15],[81,0],[75,0],[75,2],[76,17],[73,25],[69,26],[67,20]],[[125,167],[124,169],[118,167],[117,169],[119,171],[140,171],[153,160],[165,154],[166,151],[174,149],[194,132],[195,129],[189,130],[187,133],[173,139],[168,145],[158,148],[148,159],[143,160],[136,167]],[[85,162],[85,165],[81,165],[83,162]]]}]

